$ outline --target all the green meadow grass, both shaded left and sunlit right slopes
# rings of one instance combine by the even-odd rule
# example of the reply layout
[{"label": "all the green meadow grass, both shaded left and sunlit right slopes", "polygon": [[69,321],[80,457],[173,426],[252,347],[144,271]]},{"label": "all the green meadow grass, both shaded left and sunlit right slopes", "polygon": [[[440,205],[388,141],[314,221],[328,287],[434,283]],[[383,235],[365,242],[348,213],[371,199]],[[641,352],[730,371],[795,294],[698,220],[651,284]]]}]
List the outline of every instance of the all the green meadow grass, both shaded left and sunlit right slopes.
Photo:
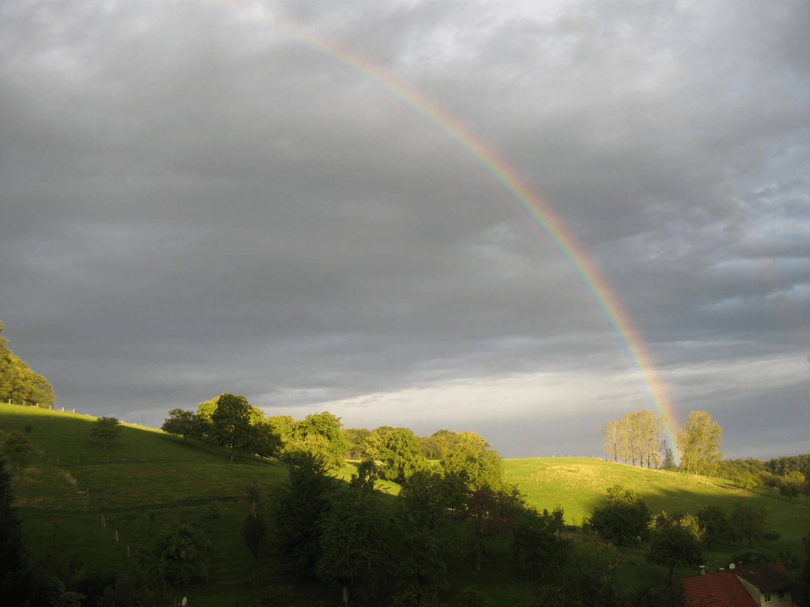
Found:
[{"label": "all the green meadow grass, both shaded left and sunlit right slopes", "polygon": [[[237,457],[198,441],[183,440],[151,428],[125,424],[120,440],[104,450],[89,436],[95,418],[79,414],[0,404],[0,440],[11,431],[25,432],[33,451],[7,462],[15,482],[16,507],[34,558],[50,551],[79,554],[89,570],[133,567],[139,550],[165,525],[192,522],[215,545],[209,584],[169,589],[177,600],[201,605],[334,605],[335,596],[321,584],[289,579],[282,563],[269,556],[258,562],[245,546],[239,530],[250,511],[245,488],[258,483],[265,501],[287,478],[286,466],[258,457]],[[352,477],[347,462],[335,476]],[[740,501],[765,508],[770,530],[781,537],[754,548],[769,554],[801,556],[800,538],[810,533],[810,504],[806,498],[787,499],[772,490],[744,491],[717,478],[633,468],[582,457],[526,458],[504,461],[505,481],[518,485],[527,501],[540,510],[557,503],[565,508],[568,524],[581,524],[601,503],[609,486],[624,485],[654,512],[696,513],[711,503],[727,511]],[[381,499],[393,503],[399,487],[381,482]],[[579,534],[572,534],[580,541]],[[706,561],[718,567],[733,554],[749,550],[747,543],[706,551]],[[506,551],[504,550],[504,554]],[[624,554],[625,575],[655,572],[641,550]],[[691,571],[681,571],[689,575]],[[451,592],[476,584],[490,607],[518,605],[531,579],[516,577],[508,562],[492,562],[479,574],[454,572],[446,605],[456,605]],[[293,588],[294,585],[294,588]],[[245,599],[245,597],[248,597]],[[247,601],[245,603],[245,601]]]}]

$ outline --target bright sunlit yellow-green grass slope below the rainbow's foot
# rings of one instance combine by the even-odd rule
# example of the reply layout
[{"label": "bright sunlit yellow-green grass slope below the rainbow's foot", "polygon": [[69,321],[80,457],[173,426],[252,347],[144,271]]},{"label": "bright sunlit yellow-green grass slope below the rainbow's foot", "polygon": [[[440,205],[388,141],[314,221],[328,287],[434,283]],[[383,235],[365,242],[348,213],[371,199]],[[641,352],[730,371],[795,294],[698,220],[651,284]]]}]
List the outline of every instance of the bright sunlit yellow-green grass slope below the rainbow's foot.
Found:
[{"label": "bright sunlit yellow-green grass slope below the rainbow's foot", "polygon": [[[768,528],[782,538],[765,546],[770,551],[791,550],[803,554],[800,538],[810,533],[808,500],[786,498],[774,490],[739,489],[730,481],[693,474],[665,472],[616,464],[588,457],[533,457],[504,461],[505,481],[517,484],[529,503],[551,510],[565,507],[566,522],[580,524],[594,507],[603,503],[608,487],[623,485],[635,490],[653,512],[697,511],[706,504],[731,510],[738,503],[765,508]],[[748,544],[737,545],[738,552]]]}]

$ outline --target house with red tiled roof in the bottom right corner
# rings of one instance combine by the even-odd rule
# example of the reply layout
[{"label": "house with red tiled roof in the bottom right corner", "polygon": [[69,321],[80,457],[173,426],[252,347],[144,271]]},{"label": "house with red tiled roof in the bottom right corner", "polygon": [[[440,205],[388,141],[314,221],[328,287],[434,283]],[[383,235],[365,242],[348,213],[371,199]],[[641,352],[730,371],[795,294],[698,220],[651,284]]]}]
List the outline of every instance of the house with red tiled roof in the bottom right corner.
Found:
[{"label": "house with red tiled roof in the bottom right corner", "polygon": [[681,578],[690,607],[794,607],[793,580],[782,563],[737,565]]}]

